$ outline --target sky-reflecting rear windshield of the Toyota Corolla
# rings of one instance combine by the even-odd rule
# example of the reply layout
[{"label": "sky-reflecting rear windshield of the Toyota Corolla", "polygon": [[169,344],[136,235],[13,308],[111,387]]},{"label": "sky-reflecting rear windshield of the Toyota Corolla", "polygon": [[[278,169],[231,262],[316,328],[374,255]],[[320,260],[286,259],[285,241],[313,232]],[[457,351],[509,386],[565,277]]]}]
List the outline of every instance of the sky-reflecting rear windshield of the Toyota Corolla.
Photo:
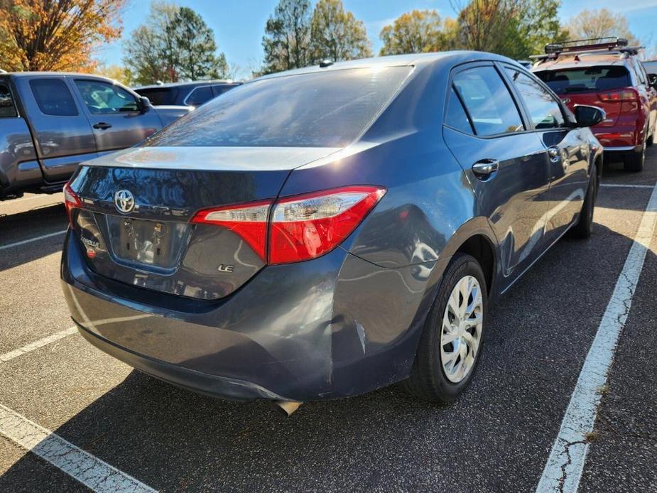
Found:
[{"label": "sky-reflecting rear windshield of the Toyota Corolla", "polygon": [[175,121],[146,146],[342,147],[391,99],[411,67],[256,80]]}]

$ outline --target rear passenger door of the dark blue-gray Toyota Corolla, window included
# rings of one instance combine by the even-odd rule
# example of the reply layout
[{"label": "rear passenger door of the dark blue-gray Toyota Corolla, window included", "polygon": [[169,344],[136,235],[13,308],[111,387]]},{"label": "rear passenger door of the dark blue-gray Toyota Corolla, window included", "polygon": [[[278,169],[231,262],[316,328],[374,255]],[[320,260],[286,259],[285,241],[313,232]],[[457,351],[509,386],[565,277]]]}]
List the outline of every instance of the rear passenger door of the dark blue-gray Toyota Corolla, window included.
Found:
[{"label": "rear passenger door of the dark blue-gray Toyota Corolla, window included", "polygon": [[443,136],[496,234],[504,289],[545,249],[545,148],[493,63],[458,67],[450,81]]}]

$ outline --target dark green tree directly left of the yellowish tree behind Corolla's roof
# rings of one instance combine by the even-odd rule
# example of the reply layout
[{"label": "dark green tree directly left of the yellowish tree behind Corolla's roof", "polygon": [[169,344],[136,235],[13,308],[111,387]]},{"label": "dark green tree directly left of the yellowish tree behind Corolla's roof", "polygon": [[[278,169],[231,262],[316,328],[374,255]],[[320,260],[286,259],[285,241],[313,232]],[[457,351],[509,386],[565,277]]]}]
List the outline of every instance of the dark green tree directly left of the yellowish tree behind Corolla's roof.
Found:
[{"label": "dark green tree directly left of the yellowish tree behind Corolla's roof", "polygon": [[310,63],[310,1],[280,0],[268,18],[262,38],[264,73],[305,67]]}]

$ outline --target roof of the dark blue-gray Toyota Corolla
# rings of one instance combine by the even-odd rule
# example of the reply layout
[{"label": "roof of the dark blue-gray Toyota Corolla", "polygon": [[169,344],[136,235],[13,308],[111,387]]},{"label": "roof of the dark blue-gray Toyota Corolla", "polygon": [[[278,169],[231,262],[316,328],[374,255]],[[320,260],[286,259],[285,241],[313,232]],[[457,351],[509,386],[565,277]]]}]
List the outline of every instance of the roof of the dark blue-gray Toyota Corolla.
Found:
[{"label": "roof of the dark blue-gray Toyota Corolla", "polygon": [[[457,65],[469,61],[497,60],[512,63],[521,67],[516,60],[506,58],[494,53],[483,51],[440,51],[434,53],[411,53],[408,55],[387,55],[374,58],[360,58],[359,60],[348,60],[346,62],[335,62],[328,66],[310,65],[309,67],[285,70],[273,74],[263,75],[254,80],[271,79],[275,77],[286,77],[288,75],[307,74],[313,72],[331,72],[333,70],[346,70],[351,68],[376,68],[376,67],[415,67],[421,65]],[[250,82],[250,81],[249,81]]]}]

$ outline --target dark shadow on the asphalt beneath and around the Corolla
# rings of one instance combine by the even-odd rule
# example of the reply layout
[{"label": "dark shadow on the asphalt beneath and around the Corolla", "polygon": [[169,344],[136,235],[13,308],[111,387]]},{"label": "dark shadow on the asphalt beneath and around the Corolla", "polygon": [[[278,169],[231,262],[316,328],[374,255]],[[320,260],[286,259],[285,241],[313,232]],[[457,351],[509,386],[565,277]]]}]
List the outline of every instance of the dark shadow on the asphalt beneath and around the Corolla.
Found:
[{"label": "dark shadow on the asphalt beneath and around the Corolla", "polygon": [[[55,433],[163,491],[528,491],[631,246],[621,231],[596,223],[590,241],[564,239],[499,300],[478,374],[451,406],[396,385],[286,417],[133,371]],[[465,475],[475,463],[479,475]],[[36,472],[47,491],[29,454],[0,490]]]}]

